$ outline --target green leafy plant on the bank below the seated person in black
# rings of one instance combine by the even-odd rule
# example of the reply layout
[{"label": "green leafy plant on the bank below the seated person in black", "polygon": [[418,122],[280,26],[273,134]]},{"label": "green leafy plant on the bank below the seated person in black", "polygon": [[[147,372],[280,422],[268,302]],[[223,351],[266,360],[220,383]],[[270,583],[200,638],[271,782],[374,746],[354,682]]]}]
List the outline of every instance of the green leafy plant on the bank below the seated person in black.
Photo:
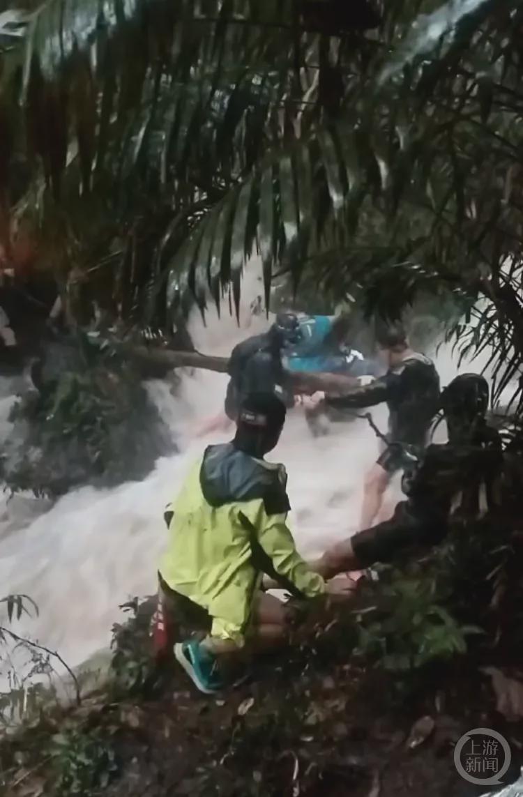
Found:
[{"label": "green leafy plant on the bank below the seated person in black", "polygon": [[466,638],[476,626],[460,625],[445,606],[433,572],[380,572],[378,607],[357,616],[356,654],[370,657],[376,666],[405,673],[431,662],[466,652]]}]

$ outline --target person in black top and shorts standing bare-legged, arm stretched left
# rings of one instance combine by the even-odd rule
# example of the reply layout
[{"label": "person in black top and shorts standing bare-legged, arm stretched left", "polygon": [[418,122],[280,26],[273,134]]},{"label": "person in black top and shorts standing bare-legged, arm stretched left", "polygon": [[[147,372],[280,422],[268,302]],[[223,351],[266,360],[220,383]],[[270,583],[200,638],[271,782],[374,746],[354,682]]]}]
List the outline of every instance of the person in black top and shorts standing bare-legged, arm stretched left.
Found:
[{"label": "person in black top and shorts standing bare-legged, arm stretched left", "polygon": [[402,446],[423,450],[427,445],[428,432],[439,400],[439,377],[435,365],[425,355],[412,351],[403,328],[383,330],[378,336],[378,347],[387,362],[386,374],[364,387],[356,387],[346,395],[325,396],[322,399],[325,405],[339,409],[363,408],[387,402],[387,442],[391,445],[379,454],[365,480],[360,528],[372,525],[391,477],[402,469]]}]

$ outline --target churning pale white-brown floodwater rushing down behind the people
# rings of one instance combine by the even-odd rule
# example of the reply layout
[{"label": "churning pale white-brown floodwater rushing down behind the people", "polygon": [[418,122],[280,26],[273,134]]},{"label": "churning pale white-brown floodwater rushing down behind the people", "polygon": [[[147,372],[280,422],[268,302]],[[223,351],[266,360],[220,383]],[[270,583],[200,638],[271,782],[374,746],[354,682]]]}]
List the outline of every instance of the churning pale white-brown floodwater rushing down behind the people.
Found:
[{"label": "churning pale white-brown floodwater rushing down behind the people", "polygon": [[[254,269],[243,290],[244,306],[249,308],[250,300],[261,293]],[[224,306],[221,320],[210,310],[206,328],[196,314],[191,332],[199,351],[226,355],[237,340],[261,331],[267,323],[265,316],[251,318],[247,311],[238,330]],[[449,349],[440,351],[436,359],[446,383],[457,372],[454,359]],[[3,499],[0,597],[30,595],[40,610],[35,619],[22,618],[16,630],[59,650],[69,665],[76,666],[108,645],[112,622],[121,617],[120,603],[155,591],[166,539],[163,507],[179,489],[189,463],[209,442],[225,437],[195,439],[194,434],[206,417],[221,410],[226,379],[206,371],[186,371],[176,397],[167,383],[150,383],[151,396],[182,453],[160,459],[144,481],[116,489],[77,489],[51,508],[30,497]],[[0,398],[0,433],[10,400]],[[374,417],[384,428],[383,407],[374,411]],[[365,422],[337,424],[328,437],[313,438],[301,412],[290,414],[270,458],[287,467],[291,524],[303,554],[316,555],[356,530],[362,480],[376,459],[376,448],[376,438]]]}]

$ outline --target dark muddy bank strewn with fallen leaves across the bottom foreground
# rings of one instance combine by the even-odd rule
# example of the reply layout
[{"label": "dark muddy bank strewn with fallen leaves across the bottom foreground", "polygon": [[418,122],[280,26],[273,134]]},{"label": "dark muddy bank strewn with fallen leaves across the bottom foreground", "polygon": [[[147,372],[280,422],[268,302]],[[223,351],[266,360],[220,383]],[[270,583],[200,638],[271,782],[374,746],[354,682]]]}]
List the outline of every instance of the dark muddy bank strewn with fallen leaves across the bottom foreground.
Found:
[{"label": "dark muddy bank strewn with fallen leaves across the bottom foreground", "polygon": [[351,644],[341,618],[217,697],[170,665],[132,695],[113,686],[65,714],[48,710],[0,743],[6,795],[473,797],[488,789],[458,775],[453,751],[478,727],[509,740],[505,780],[516,779],[523,727],[497,713],[485,662],[470,655],[399,678],[356,663]]}]

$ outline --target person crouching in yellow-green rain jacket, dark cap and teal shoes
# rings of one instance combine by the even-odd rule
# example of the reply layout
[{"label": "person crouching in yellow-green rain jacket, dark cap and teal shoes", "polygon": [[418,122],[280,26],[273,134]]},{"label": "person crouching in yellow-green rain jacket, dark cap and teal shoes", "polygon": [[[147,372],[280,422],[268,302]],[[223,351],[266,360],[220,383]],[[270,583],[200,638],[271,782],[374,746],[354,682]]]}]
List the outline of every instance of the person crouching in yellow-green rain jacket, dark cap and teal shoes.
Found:
[{"label": "person crouching in yellow-green rain jacket, dark cap and teal shoes", "polygon": [[277,445],[285,413],[276,395],[247,396],[234,440],[209,446],[167,507],[160,593],[204,621],[203,641],[175,645],[175,658],[204,693],[227,685],[222,664],[231,654],[285,640],[290,611],[261,590],[264,574],[302,599],[344,599],[353,587],[350,579],[326,584],[296,550],[285,468],[263,459]]}]

